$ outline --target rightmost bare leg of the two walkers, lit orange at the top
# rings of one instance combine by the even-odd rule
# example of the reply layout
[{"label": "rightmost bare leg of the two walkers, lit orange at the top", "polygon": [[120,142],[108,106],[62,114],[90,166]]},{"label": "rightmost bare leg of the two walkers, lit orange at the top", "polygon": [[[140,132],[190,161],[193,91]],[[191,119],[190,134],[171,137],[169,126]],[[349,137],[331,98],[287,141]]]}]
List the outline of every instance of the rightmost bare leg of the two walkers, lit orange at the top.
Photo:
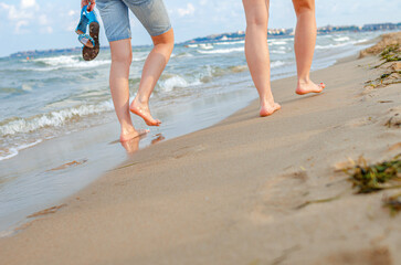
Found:
[{"label": "rightmost bare leg of the two walkers, lit orange at the top", "polygon": [[294,42],[298,73],[296,93],[320,93],[325,84],[316,85],[309,78],[316,44],[315,0],[293,0],[293,4],[297,17]]}]

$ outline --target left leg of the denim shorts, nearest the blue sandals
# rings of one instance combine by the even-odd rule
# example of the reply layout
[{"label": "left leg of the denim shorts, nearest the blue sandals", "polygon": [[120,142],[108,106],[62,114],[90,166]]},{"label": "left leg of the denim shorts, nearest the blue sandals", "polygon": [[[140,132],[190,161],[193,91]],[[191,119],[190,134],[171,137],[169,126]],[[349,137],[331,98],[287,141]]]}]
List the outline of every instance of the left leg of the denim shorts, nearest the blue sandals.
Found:
[{"label": "left leg of the denim shorts, nearest the blue sandals", "polygon": [[130,39],[128,7],[122,0],[98,0],[96,6],[109,42]]}]

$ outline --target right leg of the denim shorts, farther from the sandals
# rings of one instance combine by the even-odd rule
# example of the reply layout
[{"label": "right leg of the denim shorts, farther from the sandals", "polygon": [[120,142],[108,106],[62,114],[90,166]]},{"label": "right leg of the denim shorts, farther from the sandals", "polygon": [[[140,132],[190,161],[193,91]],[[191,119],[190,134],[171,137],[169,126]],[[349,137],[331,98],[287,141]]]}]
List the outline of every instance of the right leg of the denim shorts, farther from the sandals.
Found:
[{"label": "right leg of the denim shorts, farther from the sandals", "polygon": [[162,0],[124,0],[124,2],[151,36],[161,35],[171,29]]}]

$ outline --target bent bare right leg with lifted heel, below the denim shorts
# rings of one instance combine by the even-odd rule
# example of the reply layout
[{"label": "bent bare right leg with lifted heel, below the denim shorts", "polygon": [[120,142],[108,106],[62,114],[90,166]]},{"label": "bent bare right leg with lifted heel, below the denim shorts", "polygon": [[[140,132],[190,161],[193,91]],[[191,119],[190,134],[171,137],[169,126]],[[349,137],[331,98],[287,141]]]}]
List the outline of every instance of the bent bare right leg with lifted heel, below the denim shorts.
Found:
[{"label": "bent bare right leg with lifted heel, below the denim shorts", "polygon": [[139,83],[139,89],[129,109],[140,116],[149,126],[159,126],[160,120],[155,119],[150,115],[149,98],[157,81],[168,63],[175,43],[172,29],[168,32],[151,38],[154,49],[149,53],[143,70],[143,76]]}]

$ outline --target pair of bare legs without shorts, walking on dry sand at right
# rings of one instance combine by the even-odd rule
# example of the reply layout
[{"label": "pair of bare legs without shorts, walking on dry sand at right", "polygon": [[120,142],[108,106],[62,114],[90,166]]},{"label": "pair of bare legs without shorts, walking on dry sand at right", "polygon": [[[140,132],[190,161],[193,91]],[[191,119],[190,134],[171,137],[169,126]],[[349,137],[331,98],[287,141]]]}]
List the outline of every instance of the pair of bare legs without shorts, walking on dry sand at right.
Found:
[{"label": "pair of bare legs without shorts, walking on dry sand at right", "polygon": [[[271,67],[267,45],[270,0],[243,0],[246,17],[245,56],[252,80],[261,99],[261,116],[272,115],[281,108],[274,102],[271,89]],[[297,15],[295,56],[298,84],[296,93],[319,93],[324,84],[316,85],[309,78],[316,43],[315,0],[293,0]]]}]

